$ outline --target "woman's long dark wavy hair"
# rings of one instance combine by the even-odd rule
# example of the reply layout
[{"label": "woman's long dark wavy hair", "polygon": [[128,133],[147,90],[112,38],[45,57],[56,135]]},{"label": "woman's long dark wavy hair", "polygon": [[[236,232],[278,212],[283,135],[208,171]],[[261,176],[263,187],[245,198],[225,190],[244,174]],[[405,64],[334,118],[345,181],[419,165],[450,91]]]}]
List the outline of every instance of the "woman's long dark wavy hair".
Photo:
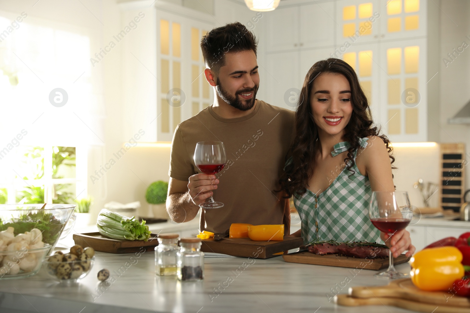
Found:
[{"label": "woman's long dark wavy hair", "polygon": [[[386,136],[380,134],[380,129],[374,125],[368,100],[360,87],[356,72],[345,61],[335,58],[321,60],[313,64],[305,76],[298,107],[295,115],[295,137],[290,145],[292,162],[288,164],[279,180],[281,190],[286,193],[285,198],[292,195],[300,196],[306,192],[308,180],[313,175],[313,162],[315,160],[316,141],[318,139],[318,126],[312,115],[310,99],[315,78],[325,73],[341,74],[346,77],[351,87],[352,115],[345,127],[344,141],[351,144],[345,158],[346,168],[352,174],[354,170],[354,151],[360,147],[359,138],[375,135],[380,137],[387,147],[391,162],[395,161],[392,147]],[[288,156],[286,156],[286,161]],[[395,168],[392,166],[392,168]],[[351,175],[352,175],[351,174]]]}]

